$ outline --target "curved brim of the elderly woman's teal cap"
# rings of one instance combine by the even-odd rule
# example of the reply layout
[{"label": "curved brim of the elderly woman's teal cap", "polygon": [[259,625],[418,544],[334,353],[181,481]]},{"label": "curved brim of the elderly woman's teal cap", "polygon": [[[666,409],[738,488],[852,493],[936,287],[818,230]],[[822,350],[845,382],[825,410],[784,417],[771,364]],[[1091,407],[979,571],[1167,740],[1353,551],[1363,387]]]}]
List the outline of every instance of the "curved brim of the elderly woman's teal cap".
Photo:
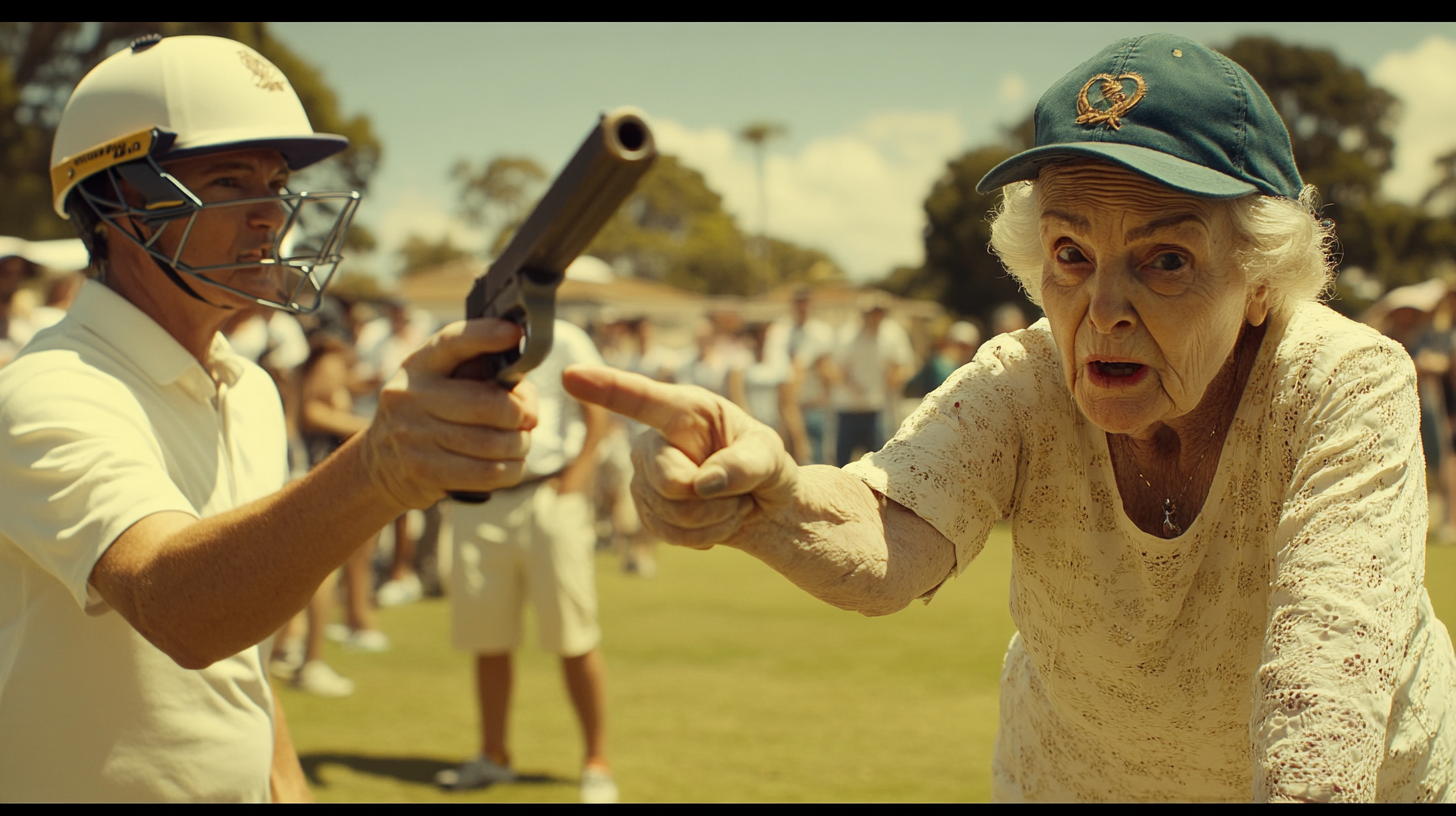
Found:
[{"label": "curved brim of the elderly woman's teal cap", "polygon": [[1246,181],[1210,170],[1203,165],[1185,162],[1176,156],[1137,147],[1133,144],[1102,141],[1072,141],[1032,147],[992,168],[992,172],[976,185],[976,191],[987,195],[1018,181],[1034,181],[1041,168],[1057,159],[1102,159],[1142,173],[1176,191],[1200,198],[1239,198],[1259,189]]}]

